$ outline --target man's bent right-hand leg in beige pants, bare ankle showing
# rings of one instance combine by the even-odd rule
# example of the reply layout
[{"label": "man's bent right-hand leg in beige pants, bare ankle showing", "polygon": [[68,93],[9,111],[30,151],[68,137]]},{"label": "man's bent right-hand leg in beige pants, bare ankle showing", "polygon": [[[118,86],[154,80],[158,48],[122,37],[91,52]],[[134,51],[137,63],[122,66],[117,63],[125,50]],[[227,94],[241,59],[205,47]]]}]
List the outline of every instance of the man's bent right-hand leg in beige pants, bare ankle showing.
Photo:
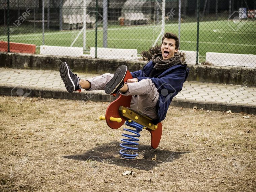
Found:
[{"label": "man's bent right-hand leg in beige pants, bare ankle showing", "polygon": [[[159,98],[158,90],[151,79],[143,79],[139,82],[125,83],[124,87],[128,88],[122,95],[133,95],[131,100],[131,109],[142,115],[157,119],[157,101]],[[122,89],[120,90],[122,91]]]}]

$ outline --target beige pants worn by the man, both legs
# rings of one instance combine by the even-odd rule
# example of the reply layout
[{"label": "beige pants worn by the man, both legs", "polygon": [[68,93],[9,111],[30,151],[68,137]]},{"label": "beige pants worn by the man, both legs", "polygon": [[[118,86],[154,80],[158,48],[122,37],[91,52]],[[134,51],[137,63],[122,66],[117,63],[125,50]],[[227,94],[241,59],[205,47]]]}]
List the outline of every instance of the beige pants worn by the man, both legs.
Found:
[{"label": "beige pants worn by the man, both legs", "polygon": [[[113,77],[113,74],[105,73],[101,76],[86,79],[91,83],[92,90],[104,90],[106,84]],[[158,90],[151,79],[143,79],[139,82],[127,83],[128,91],[124,96],[132,95],[131,109],[141,115],[157,119],[156,104],[159,97]]]}]

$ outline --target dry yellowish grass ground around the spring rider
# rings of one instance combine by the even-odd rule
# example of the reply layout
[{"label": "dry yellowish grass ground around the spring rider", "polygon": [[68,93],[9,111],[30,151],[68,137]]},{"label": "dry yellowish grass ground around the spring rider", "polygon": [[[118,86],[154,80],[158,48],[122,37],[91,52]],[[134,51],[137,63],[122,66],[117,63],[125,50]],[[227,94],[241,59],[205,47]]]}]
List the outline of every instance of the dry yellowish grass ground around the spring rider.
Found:
[{"label": "dry yellowish grass ground around the spring rider", "polygon": [[98,118],[107,105],[1,96],[0,191],[256,191],[251,114],[170,107],[158,149],[184,153],[149,171],[63,158],[120,141]]}]

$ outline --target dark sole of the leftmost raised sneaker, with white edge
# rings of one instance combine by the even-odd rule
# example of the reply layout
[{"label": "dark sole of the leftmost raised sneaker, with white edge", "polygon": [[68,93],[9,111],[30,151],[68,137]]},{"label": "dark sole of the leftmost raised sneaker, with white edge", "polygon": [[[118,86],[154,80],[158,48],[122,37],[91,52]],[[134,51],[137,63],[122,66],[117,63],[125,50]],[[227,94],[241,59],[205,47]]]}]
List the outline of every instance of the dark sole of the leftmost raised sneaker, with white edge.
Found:
[{"label": "dark sole of the leftmost raised sneaker, with white edge", "polygon": [[[73,93],[75,91],[75,84],[72,81],[70,74],[69,74],[69,66],[66,62],[63,62],[60,65],[60,76],[62,81],[65,84],[65,87],[69,93]],[[68,81],[71,81],[71,83],[68,83]],[[72,84],[72,85],[71,85]]]}]

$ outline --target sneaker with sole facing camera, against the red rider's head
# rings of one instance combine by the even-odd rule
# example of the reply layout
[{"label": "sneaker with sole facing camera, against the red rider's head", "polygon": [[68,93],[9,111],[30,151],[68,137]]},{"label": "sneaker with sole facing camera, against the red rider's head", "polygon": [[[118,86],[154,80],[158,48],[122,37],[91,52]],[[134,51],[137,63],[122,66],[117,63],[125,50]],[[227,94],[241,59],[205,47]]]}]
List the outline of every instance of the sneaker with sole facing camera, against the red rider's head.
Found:
[{"label": "sneaker with sole facing camera, against the red rider's head", "polygon": [[120,91],[124,85],[124,77],[126,72],[127,66],[125,65],[121,65],[115,70],[113,78],[105,86],[106,94],[114,94]]}]

